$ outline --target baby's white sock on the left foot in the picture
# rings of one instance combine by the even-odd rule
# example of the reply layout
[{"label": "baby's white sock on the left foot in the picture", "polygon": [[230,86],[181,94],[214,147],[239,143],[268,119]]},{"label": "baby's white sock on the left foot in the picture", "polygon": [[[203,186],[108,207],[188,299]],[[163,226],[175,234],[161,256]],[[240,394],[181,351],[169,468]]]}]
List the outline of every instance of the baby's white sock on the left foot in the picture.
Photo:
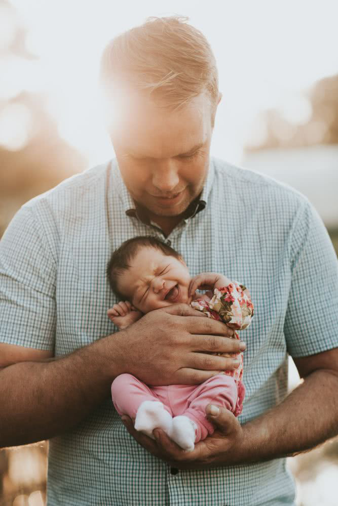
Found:
[{"label": "baby's white sock on the left foot in the picture", "polygon": [[162,402],[143,401],[138,407],[134,427],[152,439],[155,439],[153,430],[156,428],[162,429],[169,436],[172,429],[172,416],[164,409]]}]

